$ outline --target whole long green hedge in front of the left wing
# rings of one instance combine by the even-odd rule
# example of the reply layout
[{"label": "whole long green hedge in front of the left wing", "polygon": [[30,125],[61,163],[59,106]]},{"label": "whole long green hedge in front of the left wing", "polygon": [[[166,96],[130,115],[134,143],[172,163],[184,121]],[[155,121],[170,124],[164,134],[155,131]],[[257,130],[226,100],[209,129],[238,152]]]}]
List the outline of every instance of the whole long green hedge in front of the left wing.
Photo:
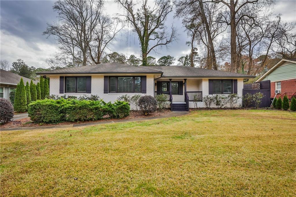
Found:
[{"label": "whole long green hedge in front of the left wing", "polygon": [[130,113],[127,102],[106,103],[103,100],[44,99],[31,102],[28,114],[35,123],[59,123],[63,121],[99,120],[109,115],[123,118]]}]

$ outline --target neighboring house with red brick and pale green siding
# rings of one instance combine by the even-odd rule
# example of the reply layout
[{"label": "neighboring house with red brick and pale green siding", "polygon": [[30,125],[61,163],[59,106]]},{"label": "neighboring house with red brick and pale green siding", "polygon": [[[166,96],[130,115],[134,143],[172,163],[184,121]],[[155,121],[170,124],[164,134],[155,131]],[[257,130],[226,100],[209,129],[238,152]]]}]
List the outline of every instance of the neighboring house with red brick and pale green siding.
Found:
[{"label": "neighboring house with red brick and pale green siding", "polygon": [[289,99],[296,95],[296,59],[282,59],[257,81],[270,80],[271,98],[283,98],[287,95]]}]

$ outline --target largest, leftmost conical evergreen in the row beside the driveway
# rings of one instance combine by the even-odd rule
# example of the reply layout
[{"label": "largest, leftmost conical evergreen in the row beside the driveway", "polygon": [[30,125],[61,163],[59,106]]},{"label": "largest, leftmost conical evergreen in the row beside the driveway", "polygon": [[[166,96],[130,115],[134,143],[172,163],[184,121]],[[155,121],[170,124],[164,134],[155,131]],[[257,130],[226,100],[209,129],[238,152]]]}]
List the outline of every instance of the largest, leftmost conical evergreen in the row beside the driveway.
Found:
[{"label": "largest, leftmost conical evergreen in the row beside the driveway", "polygon": [[25,112],[27,111],[27,95],[24,81],[20,79],[20,83],[17,85],[15,91],[15,102],[14,106],[16,112]]}]

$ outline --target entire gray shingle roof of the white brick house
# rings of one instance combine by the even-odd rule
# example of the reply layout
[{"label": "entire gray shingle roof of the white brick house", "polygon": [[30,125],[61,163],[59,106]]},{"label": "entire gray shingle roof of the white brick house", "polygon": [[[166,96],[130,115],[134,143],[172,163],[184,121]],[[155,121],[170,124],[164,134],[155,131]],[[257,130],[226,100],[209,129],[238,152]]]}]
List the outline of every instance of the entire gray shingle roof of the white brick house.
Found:
[{"label": "entire gray shingle roof of the white brick house", "polygon": [[94,73],[160,73],[163,77],[255,77],[239,73],[214,71],[185,66],[131,66],[120,63],[104,63],[90,66],[63,68],[37,74],[94,74]]}]

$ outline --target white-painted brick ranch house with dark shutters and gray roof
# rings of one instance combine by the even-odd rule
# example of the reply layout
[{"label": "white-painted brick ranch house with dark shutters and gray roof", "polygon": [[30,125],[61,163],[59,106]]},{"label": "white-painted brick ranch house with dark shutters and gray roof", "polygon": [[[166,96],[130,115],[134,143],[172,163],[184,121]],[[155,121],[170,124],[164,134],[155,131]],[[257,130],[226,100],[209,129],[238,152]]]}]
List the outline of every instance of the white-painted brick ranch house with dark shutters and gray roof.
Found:
[{"label": "white-painted brick ranch house with dark shutters and gray roof", "polygon": [[[37,73],[50,78],[50,95],[98,95],[114,102],[121,95],[168,95],[171,110],[205,107],[205,95],[236,93],[255,76],[183,66],[131,66],[119,63],[64,68]],[[242,105],[242,99],[237,105]],[[215,106],[213,106],[215,107]],[[133,106],[131,106],[133,108]]]}]

